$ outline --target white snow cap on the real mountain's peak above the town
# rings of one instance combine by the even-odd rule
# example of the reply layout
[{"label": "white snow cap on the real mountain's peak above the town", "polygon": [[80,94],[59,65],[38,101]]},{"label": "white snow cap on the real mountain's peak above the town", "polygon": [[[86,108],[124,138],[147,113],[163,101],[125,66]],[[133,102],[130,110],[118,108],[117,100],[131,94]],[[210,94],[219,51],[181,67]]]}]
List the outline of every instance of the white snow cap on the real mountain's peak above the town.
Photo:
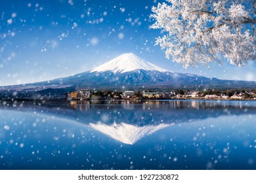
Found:
[{"label": "white snow cap on the real mountain's peak above the town", "polygon": [[159,71],[161,73],[170,72],[167,69],[163,69],[150,63],[148,61],[143,61],[133,53],[122,54],[121,56],[104,63],[91,70],[93,72],[104,72],[112,71],[113,73],[127,73],[130,71],[135,71],[137,69],[145,71]]}]

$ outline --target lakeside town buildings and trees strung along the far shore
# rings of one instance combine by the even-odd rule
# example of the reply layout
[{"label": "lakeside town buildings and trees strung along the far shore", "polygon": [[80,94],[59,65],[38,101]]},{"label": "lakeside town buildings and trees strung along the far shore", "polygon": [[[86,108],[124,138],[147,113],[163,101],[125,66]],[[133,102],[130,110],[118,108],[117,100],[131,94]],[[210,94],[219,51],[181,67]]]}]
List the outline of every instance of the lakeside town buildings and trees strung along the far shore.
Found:
[{"label": "lakeside town buildings and trees strung along the far shore", "polygon": [[133,91],[117,92],[112,90],[76,90],[68,93],[68,100],[87,99],[226,99],[256,100],[256,90],[205,90],[201,92],[173,90],[171,92]]}]

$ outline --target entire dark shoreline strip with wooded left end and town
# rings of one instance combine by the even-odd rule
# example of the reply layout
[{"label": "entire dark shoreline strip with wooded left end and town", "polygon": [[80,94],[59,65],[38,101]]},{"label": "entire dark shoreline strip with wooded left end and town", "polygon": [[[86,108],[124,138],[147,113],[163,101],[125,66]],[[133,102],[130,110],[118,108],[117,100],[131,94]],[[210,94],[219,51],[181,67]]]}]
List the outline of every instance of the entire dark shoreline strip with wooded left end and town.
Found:
[{"label": "entire dark shoreline strip with wooded left end and town", "polygon": [[0,101],[10,100],[108,100],[108,99],[226,99],[226,100],[256,100],[254,90],[171,90],[171,91],[116,91],[116,90],[74,90],[67,92],[61,89],[48,88],[33,92],[0,92]]}]

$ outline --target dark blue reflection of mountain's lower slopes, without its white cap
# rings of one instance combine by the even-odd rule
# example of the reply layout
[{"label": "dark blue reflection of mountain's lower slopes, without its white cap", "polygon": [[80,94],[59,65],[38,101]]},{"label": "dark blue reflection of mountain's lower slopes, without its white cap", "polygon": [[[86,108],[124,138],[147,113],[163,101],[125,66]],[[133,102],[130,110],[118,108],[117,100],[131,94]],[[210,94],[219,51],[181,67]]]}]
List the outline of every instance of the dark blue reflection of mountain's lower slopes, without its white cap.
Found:
[{"label": "dark blue reflection of mountain's lower slopes, without its white cap", "polygon": [[254,101],[47,101],[0,105],[7,110],[37,112],[82,124],[156,125],[219,116],[255,114]]}]

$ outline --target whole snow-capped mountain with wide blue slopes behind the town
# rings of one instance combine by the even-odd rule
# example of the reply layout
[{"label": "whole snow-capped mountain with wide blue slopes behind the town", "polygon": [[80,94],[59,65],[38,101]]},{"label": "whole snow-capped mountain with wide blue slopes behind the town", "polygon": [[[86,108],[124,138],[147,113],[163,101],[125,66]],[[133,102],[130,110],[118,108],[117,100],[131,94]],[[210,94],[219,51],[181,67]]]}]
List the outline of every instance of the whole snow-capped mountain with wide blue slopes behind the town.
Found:
[{"label": "whole snow-capped mountain with wide blue slopes behind the town", "polygon": [[46,82],[5,86],[1,90],[32,92],[47,88],[66,91],[81,88],[89,90],[251,89],[256,88],[256,82],[220,80],[200,75],[176,73],[129,53],[122,54],[85,73]]}]

